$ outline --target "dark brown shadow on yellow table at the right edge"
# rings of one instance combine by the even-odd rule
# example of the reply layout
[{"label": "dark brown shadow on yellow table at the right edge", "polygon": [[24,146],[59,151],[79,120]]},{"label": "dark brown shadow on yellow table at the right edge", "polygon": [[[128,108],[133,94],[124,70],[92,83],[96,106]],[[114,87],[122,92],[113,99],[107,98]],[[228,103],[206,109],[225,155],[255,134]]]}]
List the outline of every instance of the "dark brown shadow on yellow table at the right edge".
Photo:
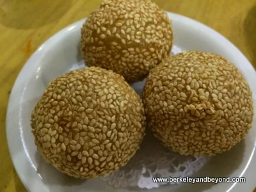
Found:
[{"label": "dark brown shadow on yellow table at the right edge", "polygon": [[247,40],[248,53],[252,58],[253,67],[256,67],[256,5],[248,12],[244,20],[244,36]]}]

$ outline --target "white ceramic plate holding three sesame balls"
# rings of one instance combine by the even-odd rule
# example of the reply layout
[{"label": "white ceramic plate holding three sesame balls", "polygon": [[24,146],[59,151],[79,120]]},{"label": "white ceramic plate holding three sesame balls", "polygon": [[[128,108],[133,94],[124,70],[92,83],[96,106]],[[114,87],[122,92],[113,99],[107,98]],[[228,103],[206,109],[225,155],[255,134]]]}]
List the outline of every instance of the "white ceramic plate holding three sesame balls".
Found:
[{"label": "white ceramic plate holding three sesame balls", "polygon": [[[216,52],[234,63],[248,80],[256,103],[256,73],[244,55],[226,38],[195,20],[168,13],[173,20],[174,44],[182,50]],[[99,179],[72,179],[45,163],[34,145],[29,124],[31,111],[47,84],[83,62],[79,52],[80,29],[76,22],[52,36],[31,56],[13,86],[6,117],[6,132],[12,161],[29,191],[147,191],[113,189]],[[142,87],[141,87],[142,88]],[[162,186],[150,191],[253,191],[256,187],[256,119],[246,139],[229,152],[212,157],[195,177],[246,177],[246,183],[197,183]]]}]

